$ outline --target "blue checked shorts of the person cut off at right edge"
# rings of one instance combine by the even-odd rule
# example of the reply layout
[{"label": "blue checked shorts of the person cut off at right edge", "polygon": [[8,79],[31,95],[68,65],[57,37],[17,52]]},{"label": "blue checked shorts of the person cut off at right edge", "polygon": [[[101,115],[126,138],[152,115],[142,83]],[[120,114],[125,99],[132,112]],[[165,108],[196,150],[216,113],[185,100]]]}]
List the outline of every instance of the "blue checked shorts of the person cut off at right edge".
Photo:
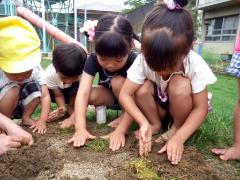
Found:
[{"label": "blue checked shorts of the person cut off at right edge", "polygon": [[235,51],[233,53],[231,63],[226,69],[226,72],[240,78],[240,52]]}]

